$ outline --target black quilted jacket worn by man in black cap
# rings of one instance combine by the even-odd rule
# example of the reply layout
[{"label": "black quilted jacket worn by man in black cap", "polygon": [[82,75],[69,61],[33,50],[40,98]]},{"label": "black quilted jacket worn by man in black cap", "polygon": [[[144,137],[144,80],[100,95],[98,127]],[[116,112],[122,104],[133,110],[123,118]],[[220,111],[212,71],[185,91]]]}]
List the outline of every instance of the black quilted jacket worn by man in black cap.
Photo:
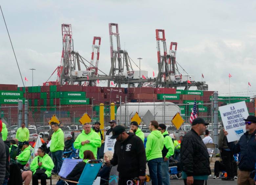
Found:
[{"label": "black quilted jacket worn by man in black cap", "polygon": [[181,144],[182,171],[187,176],[210,175],[209,154],[203,140],[191,129],[182,139]]}]

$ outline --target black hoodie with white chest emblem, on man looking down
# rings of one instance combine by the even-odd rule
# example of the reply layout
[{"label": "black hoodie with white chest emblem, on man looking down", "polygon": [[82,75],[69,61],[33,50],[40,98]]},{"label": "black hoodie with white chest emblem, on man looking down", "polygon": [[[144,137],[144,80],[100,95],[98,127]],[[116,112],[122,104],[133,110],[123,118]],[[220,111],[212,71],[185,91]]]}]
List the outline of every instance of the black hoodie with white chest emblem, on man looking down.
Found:
[{"label": "black hoodie with white chest emblem, on man looking down", "polygon": [[123,142],[117,141],[110,163],[117,166],[119,177],[134,178],[145,176],[146,153],[142,140],[134,133],[129,133]]}]

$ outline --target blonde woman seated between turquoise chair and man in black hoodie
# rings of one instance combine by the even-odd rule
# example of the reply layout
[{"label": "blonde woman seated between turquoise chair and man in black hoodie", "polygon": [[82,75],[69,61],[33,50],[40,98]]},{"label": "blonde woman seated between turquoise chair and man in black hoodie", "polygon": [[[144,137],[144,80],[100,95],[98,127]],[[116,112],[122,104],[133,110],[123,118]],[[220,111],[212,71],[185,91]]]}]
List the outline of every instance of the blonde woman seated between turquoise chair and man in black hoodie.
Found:
[{"label": "blonde woman seated between turquoise chair and man in black hoodie", "polygon": [[[104,162],[106,160],[110,161],[113,158],[113,152],[107,151],[104,154]],[[104,164],[104,166],[100,169],[97,176],[100,176],[100,184],[108,184],[109,174],[112,166]]]}]

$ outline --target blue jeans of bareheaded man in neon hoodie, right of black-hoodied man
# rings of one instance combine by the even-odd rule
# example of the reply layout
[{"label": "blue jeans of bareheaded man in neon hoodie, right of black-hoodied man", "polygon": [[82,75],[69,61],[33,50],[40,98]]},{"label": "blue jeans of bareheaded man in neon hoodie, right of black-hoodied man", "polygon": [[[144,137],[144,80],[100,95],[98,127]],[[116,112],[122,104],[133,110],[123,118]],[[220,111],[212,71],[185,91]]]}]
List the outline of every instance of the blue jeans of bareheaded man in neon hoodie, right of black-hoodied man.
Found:
[{"label": "blue jeans of bareheaded man in neon hoodie, right of black-hoodied man", "polygon": [[162,173],[161,173],[161,158],[155,158],[148,161],[149,176],[152,180],[152,185],[162,185]]}]

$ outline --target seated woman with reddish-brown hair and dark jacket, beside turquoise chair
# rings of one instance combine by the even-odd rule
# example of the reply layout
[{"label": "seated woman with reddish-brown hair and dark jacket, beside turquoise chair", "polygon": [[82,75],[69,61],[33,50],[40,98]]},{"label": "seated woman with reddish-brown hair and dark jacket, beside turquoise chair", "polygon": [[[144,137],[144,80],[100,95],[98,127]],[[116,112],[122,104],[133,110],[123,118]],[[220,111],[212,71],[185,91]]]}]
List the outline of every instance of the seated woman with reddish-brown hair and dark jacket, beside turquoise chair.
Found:
[{"label": "seated woman with reddish-brown hair and dark jacket, beside turquoise chair", "polygon": [[[88,160],[96,160],[96,159],[95,159],[92,151],[85,150],[83,161],[78,162],[77,165],[75,165],[75,168],[70,172],[70,174],[67,175],[67,177],[63,178],[63,179],[78,182]],[[90,163],[94,163],[94,162],[90,162]],[[77,185],[77,183],[72,183],[72,182],[69,182],[68,184],[69,185]],[[63,180],[59,180],[56,185],[65,185],[65,182]]]}]

